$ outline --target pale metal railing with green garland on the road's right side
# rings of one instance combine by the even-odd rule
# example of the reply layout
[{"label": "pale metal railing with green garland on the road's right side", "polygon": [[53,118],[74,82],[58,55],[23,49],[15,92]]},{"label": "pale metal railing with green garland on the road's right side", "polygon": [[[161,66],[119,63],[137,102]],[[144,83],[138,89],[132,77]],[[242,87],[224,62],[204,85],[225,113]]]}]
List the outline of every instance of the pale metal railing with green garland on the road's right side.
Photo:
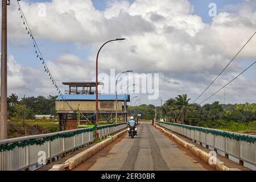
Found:
[{"label": "pale metal railing with green garland on the road's right side", "polygon": [[156,122],[168,130],[174,131],[200,144],[205,144],[207,148],[213,147],[220,150],[226,156],[231,155],[240,160],[240,164],[247,162],[256,166],[256,136],[238,134],[204,127],[181,125],[168,122]]}]

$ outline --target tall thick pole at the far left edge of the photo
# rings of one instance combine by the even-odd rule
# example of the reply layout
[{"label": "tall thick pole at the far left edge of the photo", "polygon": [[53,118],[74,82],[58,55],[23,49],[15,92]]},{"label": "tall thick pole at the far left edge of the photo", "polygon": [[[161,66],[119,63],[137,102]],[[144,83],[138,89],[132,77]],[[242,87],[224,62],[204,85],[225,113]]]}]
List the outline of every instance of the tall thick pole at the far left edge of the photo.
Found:
[{"label": "tall thick pole at the far left edge of the photo", "polygon": [[7,0],[2,0],[0,140],[7,138]]}]

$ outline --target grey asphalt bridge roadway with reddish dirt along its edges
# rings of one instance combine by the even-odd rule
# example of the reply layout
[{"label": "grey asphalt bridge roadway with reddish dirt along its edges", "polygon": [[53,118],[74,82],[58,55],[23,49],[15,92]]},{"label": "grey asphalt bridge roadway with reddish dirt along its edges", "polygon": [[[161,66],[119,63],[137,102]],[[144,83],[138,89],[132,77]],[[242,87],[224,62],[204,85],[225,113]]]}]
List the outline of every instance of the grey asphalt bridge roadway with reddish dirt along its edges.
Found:
[{"label": "grey asphalt bridge roadway with reddish dirt along its edges", "polygon": [[85,170],[213,170],[189,150],[179,146],[151,123],[142,122],[133,139],[122,135],[112,144],[77,166]]}]

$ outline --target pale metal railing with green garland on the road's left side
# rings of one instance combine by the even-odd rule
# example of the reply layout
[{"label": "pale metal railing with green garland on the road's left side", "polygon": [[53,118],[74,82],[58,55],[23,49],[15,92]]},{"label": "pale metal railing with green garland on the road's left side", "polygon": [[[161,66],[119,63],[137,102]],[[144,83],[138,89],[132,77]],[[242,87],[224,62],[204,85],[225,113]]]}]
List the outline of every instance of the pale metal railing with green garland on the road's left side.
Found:
[{"label": "pale metal railing with green garland on the road's left side", "polygon": [[[125,129],[126,123],[98,126],[100,138]],[[42,153],[50,162],[57,156],[93,142],[93,128],[0,140],[0,171],[16,171],[38,166]],[[40,144],[38,144],[40,143]]]}]

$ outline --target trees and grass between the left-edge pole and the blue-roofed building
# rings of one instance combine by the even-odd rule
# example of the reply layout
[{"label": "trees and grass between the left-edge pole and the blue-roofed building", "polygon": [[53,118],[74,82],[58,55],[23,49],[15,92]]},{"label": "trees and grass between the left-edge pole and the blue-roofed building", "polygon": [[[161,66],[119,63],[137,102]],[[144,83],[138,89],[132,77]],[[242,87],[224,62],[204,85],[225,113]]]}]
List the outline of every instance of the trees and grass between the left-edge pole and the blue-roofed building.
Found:
[{"label": "trees and grass between the left-edge pole and the blue-roofed building", "polygon": [[[46,134],[58,131],[56,120],[35,119],[36,114],[55,115],[55,96],[19,98],[12,93],[7,98],[8,138]],[[26,122],[23,123],[24,106]]]}]

